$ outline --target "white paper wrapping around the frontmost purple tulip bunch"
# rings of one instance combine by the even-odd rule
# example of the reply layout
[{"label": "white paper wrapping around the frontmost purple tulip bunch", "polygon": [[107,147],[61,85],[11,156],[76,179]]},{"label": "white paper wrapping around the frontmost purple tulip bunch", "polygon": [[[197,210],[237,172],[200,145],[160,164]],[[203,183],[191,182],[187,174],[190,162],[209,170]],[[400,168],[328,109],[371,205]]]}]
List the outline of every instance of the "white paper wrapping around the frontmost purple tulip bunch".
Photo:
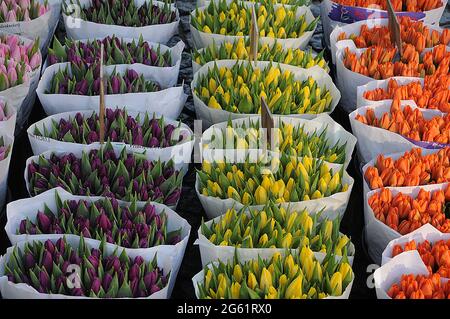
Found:
[{"label": "white paper wrapping around the frontmost purple tulip bunch", "polygon": [[[77,249],[79,246],[79,238],[78,237],[66,237],[67,243],[70,244],[71,247],[74,249]],[[45,242],[46,239],[40,239],[36,240],[40,242]],[[57,239],[51,239],[53,243],[56,243]],[[96,248],[98,249],[100,247],[100,242],[98,241],[85,241],[86,246],[89,248]],[[21,250],[25,247],[25,244],[27,242],[20,242],[17,244],[17,247]],[[116,246],[107,246],[106,247],[106,253],[108,255],[112,255],[114,252],[114,249]],[[92,299],[89,297],[79,297],[79,296],[68,296],[68,295],[61,295],[61,294],[42,294],[39,293],[36,289],[33,287],[27,285],[27,284],[15,284],[10,281],[8,281],[8,277],[5,276],[5,264],[9,261],[9,258],[12,254],[13,247],[8,248],[6,251],[6,254],[0,257],[0,292],[2,294],[2,297],[5,299]],[[119,248],[118,253],[123,251],[124,249]],[[137,250],[137,249],[125,249],[127,256],[134,259],[137,256],[141,256],[146,262],[150,262],[153,260],[155,256],[155,251],[143,251],[143,250]],[[167,254],[165,252],[158,252],[157,253],[157,262],[158,267],[161,268],[164,271],[164,274],[167,274],[168,272],[171,272],[174,270],[174,253]],[[168,299],[170,298],[171,292],[169,291],[170,284],[173,284],[176,280],[176,276],[172,273],[169,277],[169,283],[166,287],[161,289],[160,291],[150,295],[146,298],[139,298],[139,299]],[[125,299],[125,298],[124,298]],[[128,299],[128,298],[126,298]]]}]

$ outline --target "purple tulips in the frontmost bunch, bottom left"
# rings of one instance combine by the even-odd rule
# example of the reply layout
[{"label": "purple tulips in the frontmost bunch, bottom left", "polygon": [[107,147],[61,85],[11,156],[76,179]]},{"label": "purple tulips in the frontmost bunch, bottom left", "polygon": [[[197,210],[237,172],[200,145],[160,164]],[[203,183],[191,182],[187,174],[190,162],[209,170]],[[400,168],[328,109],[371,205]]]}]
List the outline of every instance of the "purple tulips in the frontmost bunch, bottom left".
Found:
[{"label": "purple tulips in the frontmost bunch, bottom left", "polygon": [[[80,267],[81,287],[69,284],[69,265]],[[147,261],[141,256],[129,257],[124,249],[111,254],[103,243],[99,249],[89,248],[83,237],[78,247],[65,238],[14,246],[4,266],[13,286],[25,284],[40,294],[89,298],[149,297],[164,289],[170,277],[170,272],[158,266],[156,255]]]}]

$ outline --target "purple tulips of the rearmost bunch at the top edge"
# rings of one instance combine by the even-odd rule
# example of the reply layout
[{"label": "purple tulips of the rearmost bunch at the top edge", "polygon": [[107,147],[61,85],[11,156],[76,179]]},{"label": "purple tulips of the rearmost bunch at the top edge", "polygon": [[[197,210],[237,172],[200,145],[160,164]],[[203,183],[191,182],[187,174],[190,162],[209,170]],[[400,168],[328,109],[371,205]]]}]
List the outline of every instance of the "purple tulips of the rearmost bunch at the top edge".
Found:
[{"label": "purple tulips of the rearmost bunch at the top edge", "polygon": [[[63,2],[63,12],[70,15],[68,4],[77,1]],[[175,11],[170,7],[170,1],[163,6],[154,4],[152,0],[137,6],[130,0],[96,0],[90,6],[81,8],[81,19],[100,24],[119,25],[125,27],[145,27],[154,24],[167,24],[177,20]]]}]

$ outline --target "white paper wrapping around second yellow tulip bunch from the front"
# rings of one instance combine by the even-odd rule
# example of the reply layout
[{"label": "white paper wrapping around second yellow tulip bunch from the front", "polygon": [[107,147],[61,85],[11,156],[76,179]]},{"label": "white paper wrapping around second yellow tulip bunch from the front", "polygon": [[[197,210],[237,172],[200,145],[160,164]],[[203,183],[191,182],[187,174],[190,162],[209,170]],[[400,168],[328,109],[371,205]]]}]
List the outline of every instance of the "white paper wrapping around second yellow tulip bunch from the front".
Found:
[{"label": "white paper wrapping around second yellow tulip bunch from the front", "polygon": [[[245,212],[247,216],[250,216],[248,211]],[[216,224],[219,223],[222,216],[214,218],[214,220],[207,221],[205,224],[210,227],[214,221]],[[201,231],[201,227],[198,229],[198,239],[195,241],[194,245],[198,245],[200,248],[200,256],[202,258],[202,265],[205,267],[210,262],[220,260],[222,262],[233,261],[233,258],[237,255],[239,260],[244,259],[257,259],[258,256],[272,256],[275,252],[279,252],[284,255],[286,253],[285,248],[237,248],[234,246],[218,246],[214,245],[212,242],[206,238]],[[341,234],[342,235],[342,234]],[[300,253],[299,249],[290,249],[292,253]],[[314,256],[318,260],[323,260],[325,258],[325,253],[314,252]],[[355,256],[355,246],[350,242],[350,246],[347,252],[348,261],[350,265],[353,265],[353,258]]]}]

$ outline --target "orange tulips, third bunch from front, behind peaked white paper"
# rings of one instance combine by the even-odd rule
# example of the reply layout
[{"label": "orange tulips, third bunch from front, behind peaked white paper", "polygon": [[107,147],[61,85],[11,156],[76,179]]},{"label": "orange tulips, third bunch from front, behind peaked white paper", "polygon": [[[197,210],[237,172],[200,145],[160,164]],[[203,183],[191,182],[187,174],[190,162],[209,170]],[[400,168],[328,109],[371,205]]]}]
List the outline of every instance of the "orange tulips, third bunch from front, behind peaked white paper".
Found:
[{"label": "orange tulips, third bunch from front, behind peaked white paper", "polygon": [[424,224],[431,224],[444,233],[450,232],[450,219],[447,218],[450,201],[450,187],[445,191],[433,193],[420,189],[416,198],[383,188],[369,200],[375,218],[401,235],[408,234]]}]

